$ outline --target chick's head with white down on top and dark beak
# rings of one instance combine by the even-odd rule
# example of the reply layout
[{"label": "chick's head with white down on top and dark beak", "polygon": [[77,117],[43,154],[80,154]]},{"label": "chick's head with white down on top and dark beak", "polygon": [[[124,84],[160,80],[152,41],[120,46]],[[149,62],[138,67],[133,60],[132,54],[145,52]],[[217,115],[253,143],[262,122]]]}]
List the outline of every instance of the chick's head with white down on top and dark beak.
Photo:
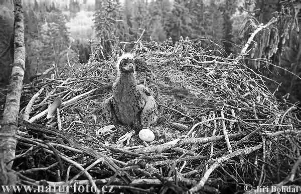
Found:
[{"label": "chick's head with white down on top and dark beak", "polygon": [[117,63],[117,70],[120,73],[133,73],[135,71],[134,56],[132,54],[123,54]]}]

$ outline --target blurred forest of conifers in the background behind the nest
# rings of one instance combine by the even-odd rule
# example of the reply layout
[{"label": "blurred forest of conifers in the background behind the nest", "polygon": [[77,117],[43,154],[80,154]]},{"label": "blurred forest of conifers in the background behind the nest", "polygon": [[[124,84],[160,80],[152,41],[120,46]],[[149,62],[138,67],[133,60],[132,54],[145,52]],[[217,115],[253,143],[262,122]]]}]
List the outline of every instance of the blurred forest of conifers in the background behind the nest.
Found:
[{"label": "blurred forest of conifers in the background behind the nest", "polygon": [[[55,64],[58,74],[91,58],[109,59],[114,46],[136,41],[179,41],[181,37],[203,41],[204,47],[219,44],[227,57],[239,53],[245,40],[241,33],[247,17],[266,24],[283,11],[283,2],[273,0],[24,0],[27,51],[25,82]],[[290,2],[290,1],[286,1]],[[296,2],[296,1],[292,1]],[[299,4],[298,4],[299,5]],[[294,9],[294,8],[292,8]],[[298,7],[293,12],[300,23]],[[0,82],[7,84],[12,59],[13,1],[0,0]],[[292,14],[292,13],[291,13]],[[293,14],[292,14],[293,15]],[[288,16],[287,17],[291,17]],[[278,32],[285,30],[279,26]],[[301,41],[298,27],[290,27],[290,39],[279,43],[272,56],[250,56],[248,63],[264,74],[278,99],[292,103],[301,99]],[[280,34],[278,35],[281,36]],[[259,43],[258,43],[259,44]],[[255,45],[255,46],[254,46]],[[256,48],[256,44],[254,44]],[[260,60],[261,58],[264,60]],[[70,64],[69,64],[70,66]],[[289,93],[289,95],[287,94]],[[285,97],[283,97],[285,96]]]}]

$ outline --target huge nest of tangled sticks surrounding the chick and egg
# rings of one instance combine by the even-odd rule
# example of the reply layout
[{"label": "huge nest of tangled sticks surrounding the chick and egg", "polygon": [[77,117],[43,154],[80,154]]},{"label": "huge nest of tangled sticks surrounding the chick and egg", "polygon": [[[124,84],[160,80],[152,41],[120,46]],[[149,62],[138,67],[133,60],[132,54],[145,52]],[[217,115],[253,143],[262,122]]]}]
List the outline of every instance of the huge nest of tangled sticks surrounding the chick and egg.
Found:
[{"label": "huge nest of tangled sticks surrounding the chick and egg", "polygon": [[[92,61],[24,86],[14,160],[20,184],[110,185],[125,193],[300,185],[300,122],[294,107],[280,108],[264,77],[192,41],[147,42],[133,52],[137,81],[159,104],[155,140],[136,135],[119,145],[130,127],[103,128],[110,123],[100,106],[112,94],[117,57]],[[46,119],[58,96],[61,109]]]}]

